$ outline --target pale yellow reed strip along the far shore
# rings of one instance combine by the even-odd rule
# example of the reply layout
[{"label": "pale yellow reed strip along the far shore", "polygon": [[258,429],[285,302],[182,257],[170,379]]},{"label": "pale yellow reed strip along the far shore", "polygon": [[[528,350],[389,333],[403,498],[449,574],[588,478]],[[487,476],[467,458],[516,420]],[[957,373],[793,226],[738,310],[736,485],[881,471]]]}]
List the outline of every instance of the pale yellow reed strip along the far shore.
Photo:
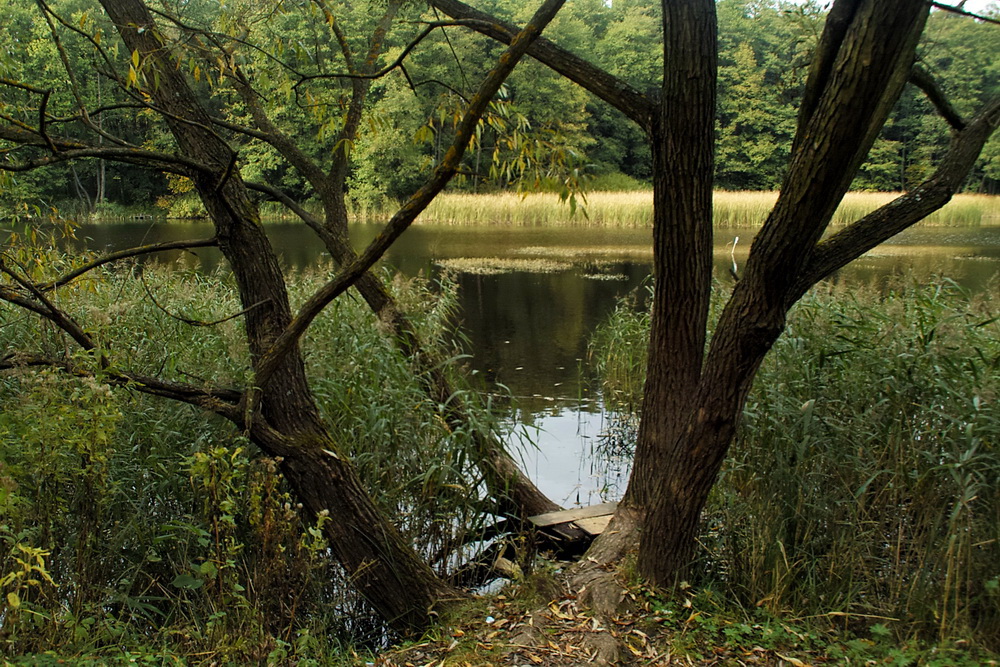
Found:
[{"label": "pale yellow reed strip along the far shore", "polygon": [[[776,192],[717,191],[714,197],[717,228],[754,227],[764,223],[777,200]],[[899,193],[851,192],[834,215],[834,225],[848,224]],[[454,225],[601,225],[649,227],[653,193],[590,192],[576,211],[552,193],[442,194],[419,218],[423,222]],[[1000,225],[1000,197],[956,195],[944,208],[923,221],[925,225]]]}]

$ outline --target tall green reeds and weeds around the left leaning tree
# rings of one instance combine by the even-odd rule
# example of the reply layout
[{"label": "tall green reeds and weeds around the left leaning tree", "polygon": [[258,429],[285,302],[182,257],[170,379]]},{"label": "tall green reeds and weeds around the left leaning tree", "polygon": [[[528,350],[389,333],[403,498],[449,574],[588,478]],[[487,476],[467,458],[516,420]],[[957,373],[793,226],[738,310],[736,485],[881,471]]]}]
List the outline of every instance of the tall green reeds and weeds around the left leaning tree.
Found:
[{"label": "tall green reeds and weeds around the left leaning tree", "polygon": [[[33,266],[53,273],[72,261],[39,259]],[[295,275],[294,298],[328,273]],[[454,288],[414,281],[394,290],[424,340],[453,354],[444,342]],[[56,298],[123,368],[196,384],[246,380],[237,321],[192,327],[179,319],[239,312],[224,274],[109,268]],[[0,322],[0,354],[59,356],[68,347],[6,304]],[[486,516],[470,432],[443,423],[363,302],[334,303],[304,349],[323,416],[375,500],[449,574]],[[336,664],[340,641],[385,639],[321,531],[299,517],[279,462],[220,420],[111,387],[95,370],[95,378],[0,374],[0,654]],[[478,418],[490,427],[488,414]]]}]

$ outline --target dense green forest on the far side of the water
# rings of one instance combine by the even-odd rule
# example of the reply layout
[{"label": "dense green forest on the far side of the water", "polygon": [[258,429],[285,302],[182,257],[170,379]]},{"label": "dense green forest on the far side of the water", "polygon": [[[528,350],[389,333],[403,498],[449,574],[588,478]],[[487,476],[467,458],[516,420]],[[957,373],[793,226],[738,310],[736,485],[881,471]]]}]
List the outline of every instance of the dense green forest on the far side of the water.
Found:
[{"label": "dense green forest on the far side of the water", "polygon": [[[66,3],[72,5],[73,3]],[[0,67],[11,80],[25,80],[45,88],[63,78],[61,60],[78,69],[91,58],[76,42],[56,45],[49,27],[30,5],[3,2],[11,17],[11,35],[0,51]],[[82,9],[71,14],[82,28],[96,17]],[[521,0],[498,0],[489,9],[500,18],[523,20],[529,11]],[[361,10],[358,10],[361,11]],[[776,189],[784,175],[795,129],[807,66],[822,28],[824,13],[818,3],[802,5],[761,0],[721,0],[718,101],[716,105],[716,187],[727,190]],[[404,9],[416,20],[421,8]],[[570,51],[587,53],[594,64],[638,90],[659,85],[662,72],[658,50],[662,40],[660,10],[652,0],[604,3],[582,0],[573,12],[556,19],[550,34]],[[196,25],[220,20],[212,3],[189,3],[184,16]],[[261,12],[257,20],[262,20]],[[426,17],[425,17],[426,18]],[[260,24],[263,28],[265,24]],[[332,56],[315,22],[301,13],[272,14],[266,30],[273,46],[291,60],[328,60]],[[405,37],[387,37],[386,57],[400,56]],[[932,13],[919,51],[919,62],[935,79],[959,113],[970,113],[1000,86],[1000,31],[985,22],[962,20],[945,12]],[[350,146],[351,198],[376,204],[383,198],[401,199],[420,182],[428,164],[440,158],[458,117],[470,82],[478,80],[499,54],[495,42],[473,34],[443,29],[429,34],[418,48],[407,51],[404,67],[372,83],[365,104],[367,132]],[[248,117],[232,104],[237,94],[214,81],[192,61],[190,71],[201,83],[200,94],[217,109],[227,109],[234,122]],[[265,62],[255,64],[261,68]],[[141,75],[141,72],[136,72]],[[330,82],[328,89],[342,86]],[[286,80],[273,81],[268,103],[276,118],[288,127],[302,128],[293,136],[316,157],[338,150],[335,136],[314,119],[324,114],[330,128],[338,118],[331,109],[314,105],[320,93],[314,87],[300,95]],[[30,91],[22,91],[30,97]],[[136,145],[162,145],[166,138],[148,113],[132,113],[134,105],[100,74],[100,69],[73,82],[73,94],[86,103],[108,107],[98,122],[109,134],[127,137]],[[60,101],[49,101],[58,108]],[[121,105],[115,109],[115,105]],[[313,119],[308,120],[307,118]],[[320,118],[322,120],[322,118]],[[306,129],[308,128],[308,129]],[[925,179],[947,149],[947,123],[915,86],[904,91],[881,132],[853,187],[862,190],[908,190]],[[247,142],[240,168],[251,179],[262,179],[307,199],[309,189],[282,163],[272,148]],[[540,63],[530,61],[514,72],[501,91],[493,112],[483,122],[451,187],[492,191],[508,187],[630,187],[648,183],[652,158],[642,133],[622,122],[621,113],[606,102],[570,84]],[[629,178],[618,178],[625,175]],[[1000,188],[1000,144],[992,140],[970,174],[966,188],[995,193]],[[0,195],[6,206],[33,202],[65,206],[74,202],[92,212],[99,207],[114,212],[116,205],[148,206],[159,202],[175,214],[200,213],[190,186],[183,179],[123,167],[93,159],[56,166],[45,177],[23,173],[8,178]],[[188,193],[187,198],[184,197]]]}]

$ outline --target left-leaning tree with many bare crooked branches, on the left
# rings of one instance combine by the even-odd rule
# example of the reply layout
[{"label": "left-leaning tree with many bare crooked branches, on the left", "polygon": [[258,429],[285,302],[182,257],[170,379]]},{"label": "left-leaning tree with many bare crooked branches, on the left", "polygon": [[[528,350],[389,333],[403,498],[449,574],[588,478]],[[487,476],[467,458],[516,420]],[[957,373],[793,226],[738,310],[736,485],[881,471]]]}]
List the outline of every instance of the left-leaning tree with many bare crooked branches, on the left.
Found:
[{"label": "left-leaning tree with many bare crooked branches, on the left", "polygon": [[[101,3],[112,29],[121,39],[123,49],[118,44],[106,46],[101,28],[97,32],[89,32],[79,27],[87,24],[86,17],[68,22],[51,6],[39,2],[40,10],[53,27],[53,43],[59,53],[65,54],[65,49],[55,29],[57,24],[70,33],[82,36],[93,46],[99,70],[103,76],[116,82],[130,98],[130,109],[152,112],[162,119],[169,129],[175,150],[155,151],[135,146],[105,132],[95,119],[119,108],[117,105],[90,108],[81,96],[71,95],[67,116],[56,118],[48,108],[51,90],[5,79],[0,83],[6,90],[12,91],[21,103],[17,112],[20,117],[10,114],[3,117],[0,138],[22,152],[18,160],[6,160],[3,168],[8,171],[31,171],[50,164],[99,157],[189,178],[212,219],[215,237],[165,245],[216,245],[222,252],[232,269],[244,307],[240,315],[253,372],[247,385],[240,388],[186,385],[130,372],[115,365],[113,343],[99,345],[88,332],[86,323],[78,322],[51,297],[53,290],[107,261],[156,251],[164,245],[116,253],[47,284],[33,282],[30,273],[9,258],[0,261],[0,273],[7,279],[5,284],[0,285],[0,298],[34,313],[65,332],[83,352],[82,356],[69,354],[66,357],[46,358],[23,350],[15,351],[0,361],[0,368],[42,366],[79,375],[99,373],[104,381],[190,403],[229,420],[262,451],[280,457],[284,476],[310,515],[322,513],[329,517],[323,522],[323,530],[331,549],[358,591],[378,613],[399,630],[423,627],[429,622],[435,607],[461,597],[461,593],[439,579],[417,556],[363,488],[351,462],[340,451],[337,438],[320,419],[310,392],[299,341],[322,309],[353,284],[366,285],[360,289],[369,302],[378,303],[378,306],[373,306],[377,311],[383,315],[394,312],[394,305],[388,300],[384,287],[372,283],[374,279],[367,270],[455,173],[490,100],[527,46],[561,5],[561,0],[543,4],[532,17],[529,27],[505,50],[469,101],[456,128],[455,138],[433,175],[407,200],[389,221],[383,234],[360,256],[356,256],[346,245],[344,200],[342,194],[334,189],[343,186],[347,160],[334,160],[330,175],[320,173],[313,176],[310,170],[315,170],[314,165],[302,157],[295,147],[284,146],[282,142],[287,140],[286,136],[275,131],[270,138],[271,145],[283,152],[289,162],[299,167],[306,179],[316,186],[323,199],[327,220],[320,222],[311,218],[274,188],[258,185],[257,189],[273,194],[302,213],[344,264],[341,272],[308,298],[297,313],[293,313],[285,277],[260,224],[257,205],[250,197],[251,186],[244,181],[237,168],[238,153],[225,136],[229,132],[235,132],[236,136],[252,136],[255,131],[233,127],[224,119],[213,117],[203,95],[202,77],[229,77],[263,131],[277,129],[263,114],[254,97],[256,91],[250,87],[240,63],[232,57],[233,52],[227,52],[225,48],[213,51],[213,55],[218,57],[214,62],[215,71],[203,70],[200,60],[188,57],[183,44],[190,41],[196,52],[202,54],[206,52],[205,41],[218,39],[218,36],[186,29],[184,19],[178,15],[164,19],[168,15],[160,12],[160,20],[157,20],[142,0],[103,0]],[[326,9],[322,2],[318,2],[317,6]],[[376,75],[374,66],[378,44],[399,7],[399,3],[390,3],[379,17],[369,56],[360,62],[354,61],[351,45],[333,16],[321,13],[327,20],[326,25],[332,31],[334,41],[343,51],[347,66],[346,72],[331,78],[347,80],[347,88],[352,93],[347,115],[340,125],[339,145],[335,144],[341,152],[345,152],[346,143],[353,141],[368,83]],[[167,21],[166,26],[161,24],[163,20]],[[119,51],[121,56],[116,57]],[[63,62],[66,64],[65,59]],[[75,71],[68,64],[66,66],[72,83]],[[25,103],[25,97],[34,101],[34,108]],[[64,126],[79,130],[84,138],[66,136],[60,131]],[[220,128],[228,128],[228,132],[224,134]],[[256,132],[259,134],[261,130]],[[402,344],[414,355],[419,354],[418,343],[406,328],[402,316],[398,315],[391,321],[397,327]],[[446,386],[442,388],[434,384],[436,380],[435,376],[430,376],[429,388],[436,391],[446,389]],[[442,405],[448,405],[449,401],[450,396],[441,397]],[[458,409],[460,406],[453,405],[449,416],[454,417]],[[503,469],[507,465],[513,467],[512,463],[508,464],[508,459],[494,457],[489,460],[490,470],[495,476],[504,474],[507,479],[516,474]]]}]

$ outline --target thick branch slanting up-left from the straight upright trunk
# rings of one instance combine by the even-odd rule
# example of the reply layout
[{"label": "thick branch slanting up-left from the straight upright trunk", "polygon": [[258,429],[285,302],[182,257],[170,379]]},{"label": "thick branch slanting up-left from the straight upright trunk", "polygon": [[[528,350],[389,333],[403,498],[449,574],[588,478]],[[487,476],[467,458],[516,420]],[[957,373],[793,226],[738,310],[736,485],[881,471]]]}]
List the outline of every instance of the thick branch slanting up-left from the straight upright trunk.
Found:
[{"label": "thick branch slanting up-left from the straight upright trunk", "polygon": [[[470,24],[469,27],[504,44],[510,44],[517,34],[517,28],[514,26],[473,9],[460,0],[431,0],[431,5],[452,18],[477,21],[478,23]],[[556,46],[544,37],[535,40],[528,49],[528,55],[589,90],[643,129],[649,130],[652,126],[653,104],[649,98],[624,81]]]}]

